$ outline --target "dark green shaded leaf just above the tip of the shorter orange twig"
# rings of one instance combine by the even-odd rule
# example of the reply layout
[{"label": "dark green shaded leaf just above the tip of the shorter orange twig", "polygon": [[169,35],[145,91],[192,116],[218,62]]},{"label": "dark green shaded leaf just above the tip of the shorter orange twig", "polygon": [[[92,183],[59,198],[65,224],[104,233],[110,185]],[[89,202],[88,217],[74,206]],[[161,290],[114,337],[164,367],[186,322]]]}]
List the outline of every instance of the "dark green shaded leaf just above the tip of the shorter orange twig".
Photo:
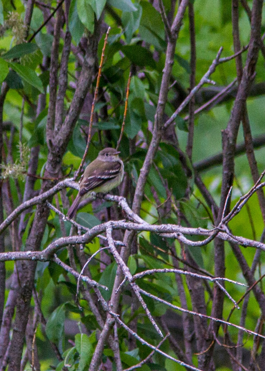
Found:
[{"label": "dark green shaded leaf just above the tip of the shorter orange twig", "polygon": [[121,51],[137,66],[156,68],[153,54],[141,45],[124,45],[121,47]]}]

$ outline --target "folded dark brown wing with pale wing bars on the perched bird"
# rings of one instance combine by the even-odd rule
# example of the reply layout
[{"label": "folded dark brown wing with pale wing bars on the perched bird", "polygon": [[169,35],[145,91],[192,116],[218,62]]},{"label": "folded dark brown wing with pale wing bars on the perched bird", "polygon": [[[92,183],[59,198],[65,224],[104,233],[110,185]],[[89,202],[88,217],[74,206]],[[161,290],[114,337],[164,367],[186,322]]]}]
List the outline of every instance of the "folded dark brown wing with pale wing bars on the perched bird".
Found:
[{"label": "folded dark brown wing with pale wing bars on the perched bird", "polygon": [[101,171],[98,169],[93,170],[84,180],[82,185],[80,184],[79,194],[84,196],[89,191],[94,190],[101,184],[107,182],[108,180],[114,179],[120,173],[121,164],[118,161],[106,162],[100,166]]}]

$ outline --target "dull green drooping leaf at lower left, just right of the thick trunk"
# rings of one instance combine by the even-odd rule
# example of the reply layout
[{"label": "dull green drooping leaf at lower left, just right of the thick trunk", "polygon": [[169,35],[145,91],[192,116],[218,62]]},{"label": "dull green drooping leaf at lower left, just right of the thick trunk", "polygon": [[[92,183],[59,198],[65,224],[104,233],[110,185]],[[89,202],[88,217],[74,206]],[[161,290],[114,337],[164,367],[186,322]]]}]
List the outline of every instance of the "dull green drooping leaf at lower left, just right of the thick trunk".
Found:
[{"label": "dull green drooping leaf at lower left, just right of the thick trunk", "polygon": [[65,322],[65,306],[58,306],[48,318],[45,332],[48,339],[54,343],[58,343],[63,336]]}]

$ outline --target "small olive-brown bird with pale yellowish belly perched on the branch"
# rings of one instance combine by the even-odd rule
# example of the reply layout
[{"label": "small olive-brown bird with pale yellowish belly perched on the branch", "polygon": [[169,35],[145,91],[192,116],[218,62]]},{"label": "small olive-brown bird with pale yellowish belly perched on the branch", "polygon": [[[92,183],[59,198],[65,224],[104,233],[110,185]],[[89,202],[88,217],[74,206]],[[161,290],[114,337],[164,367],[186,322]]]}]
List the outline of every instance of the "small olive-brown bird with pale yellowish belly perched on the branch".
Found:
[{"label": "small olive-brown bird with pale yellowish belly perched on the branch", "polygon": [[82,198],[88,197],[92,191],[108,193],[121,184],[124,175],[124,165],[119,157],[120,151],[115,148],[104,148],[98,157],[85,168],[79,192],[67,216],[73,218]]}]

